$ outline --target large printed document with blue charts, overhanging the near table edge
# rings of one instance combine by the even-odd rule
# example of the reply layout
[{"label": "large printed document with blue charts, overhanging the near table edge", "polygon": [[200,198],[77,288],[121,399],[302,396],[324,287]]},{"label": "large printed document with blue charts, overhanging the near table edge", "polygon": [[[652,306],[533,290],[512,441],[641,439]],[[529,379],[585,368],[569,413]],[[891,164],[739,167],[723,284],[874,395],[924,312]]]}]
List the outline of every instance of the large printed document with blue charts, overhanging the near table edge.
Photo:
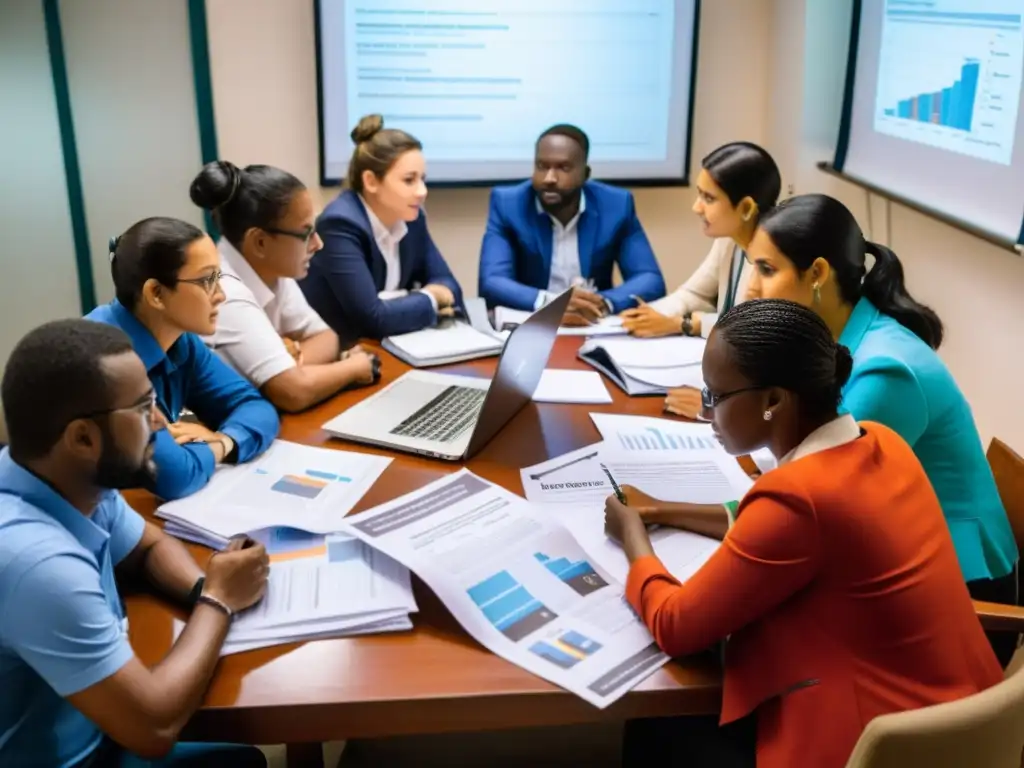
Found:
[{"label": "large printed document with blue charts, overhanging the near table edge", "polygon": [[350,518],[484,647],[604,708],[668,656],[623,586],[550,515],[468,470]]}]

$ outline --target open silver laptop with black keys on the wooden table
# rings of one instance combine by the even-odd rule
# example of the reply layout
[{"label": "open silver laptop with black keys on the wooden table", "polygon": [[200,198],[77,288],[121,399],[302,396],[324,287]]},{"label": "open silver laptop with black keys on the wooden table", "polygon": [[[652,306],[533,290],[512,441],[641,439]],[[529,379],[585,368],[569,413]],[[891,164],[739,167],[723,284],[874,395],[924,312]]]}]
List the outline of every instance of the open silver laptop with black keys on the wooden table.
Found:
[{"label": "open silver laptop with black keys on the wooden table", "polygon": [[324,429],[435,459],[476,455],[534,397],[571,296],[566,291],[512,331],[494,379],[410,371]]}]

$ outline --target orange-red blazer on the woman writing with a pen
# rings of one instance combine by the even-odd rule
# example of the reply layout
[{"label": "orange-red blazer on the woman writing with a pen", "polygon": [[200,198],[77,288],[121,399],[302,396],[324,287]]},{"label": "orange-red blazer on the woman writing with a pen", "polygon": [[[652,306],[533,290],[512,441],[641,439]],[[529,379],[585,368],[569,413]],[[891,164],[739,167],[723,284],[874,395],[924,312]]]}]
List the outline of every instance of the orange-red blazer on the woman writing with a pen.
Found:
[{"label": "orange-red blazer on the woman writing with a pen", "polygon": [[758,765],[843,768],[878,715],[1002,679],[938,499],[880,424],[765,474],[680,585],[656,557],[627,596],[674,656],[730,636],[722,722],[758,711]]}]

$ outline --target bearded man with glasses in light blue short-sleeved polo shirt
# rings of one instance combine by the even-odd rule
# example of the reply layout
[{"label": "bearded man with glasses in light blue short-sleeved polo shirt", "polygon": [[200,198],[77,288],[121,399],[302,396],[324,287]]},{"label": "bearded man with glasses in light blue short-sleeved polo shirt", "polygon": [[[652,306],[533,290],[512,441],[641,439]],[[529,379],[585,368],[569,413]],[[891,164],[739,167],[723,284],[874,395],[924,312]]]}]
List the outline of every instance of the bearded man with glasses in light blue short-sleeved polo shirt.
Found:
[{"label": "bearded man with glasses in light blue short-sleeved polo shirt", "polygon": [[[0,765],[265,766],[251,746],[175,744],[269,564],[236,542],[204,578],[117,493],[156,471],[156,395],[131,341],[84,319],[42,326],[11,353],[2,397]],[[125,578],[191,608],[152,668],[128,643]]]}]

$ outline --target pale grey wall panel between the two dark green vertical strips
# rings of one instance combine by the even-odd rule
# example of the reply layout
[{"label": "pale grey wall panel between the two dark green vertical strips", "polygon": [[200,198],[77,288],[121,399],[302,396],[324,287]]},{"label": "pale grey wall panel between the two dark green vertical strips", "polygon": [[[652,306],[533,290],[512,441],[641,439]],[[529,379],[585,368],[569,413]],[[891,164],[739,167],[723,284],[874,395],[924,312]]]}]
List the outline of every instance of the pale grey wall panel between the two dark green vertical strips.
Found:
[{"label": "pale grey wall panel between the two dark green vertical strips", "polygon": [[59,4],[96,300],[114,297],[108,243],[147,216],[203,226],[185,0]]}]

